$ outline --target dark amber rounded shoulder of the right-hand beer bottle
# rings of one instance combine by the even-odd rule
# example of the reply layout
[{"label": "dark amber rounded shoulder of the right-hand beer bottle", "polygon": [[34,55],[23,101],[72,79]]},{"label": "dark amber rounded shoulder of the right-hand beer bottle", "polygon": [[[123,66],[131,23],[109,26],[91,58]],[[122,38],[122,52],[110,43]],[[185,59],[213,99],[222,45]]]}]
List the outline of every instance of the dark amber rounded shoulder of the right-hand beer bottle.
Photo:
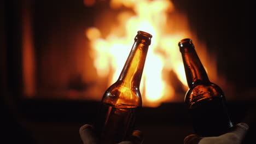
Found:
[{"label": "dark amber rounded shoulder of the right-hand beer bottle", "polygon": [[189,88],[185,95],[185,103],[189,106],[202,100],[225,99],[222,89],[215,83],[200,83]]}]

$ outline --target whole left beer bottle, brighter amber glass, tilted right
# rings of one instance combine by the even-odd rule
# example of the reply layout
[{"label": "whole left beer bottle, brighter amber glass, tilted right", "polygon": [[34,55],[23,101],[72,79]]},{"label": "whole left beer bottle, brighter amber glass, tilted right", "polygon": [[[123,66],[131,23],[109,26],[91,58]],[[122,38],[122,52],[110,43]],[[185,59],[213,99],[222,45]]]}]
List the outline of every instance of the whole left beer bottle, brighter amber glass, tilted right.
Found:
[{"label": "whole left beer bottle, brighter amber glass, tilted right", "polygon": [[95,124],[100,143],[118,143],[131,135],[138,109],[142,72],[152,35],[138,31],[118,80],[104,93]]}]

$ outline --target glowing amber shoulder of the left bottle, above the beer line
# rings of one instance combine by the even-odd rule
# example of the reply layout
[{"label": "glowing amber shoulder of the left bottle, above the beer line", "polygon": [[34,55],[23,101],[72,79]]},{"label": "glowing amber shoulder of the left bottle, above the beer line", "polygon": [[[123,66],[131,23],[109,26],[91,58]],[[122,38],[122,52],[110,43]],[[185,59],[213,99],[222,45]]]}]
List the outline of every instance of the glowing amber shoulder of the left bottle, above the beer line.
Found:
[{"label": "glowing amber shoulder of the left bottle, above the beer line", "polygon": [[142,98],[139,88],[114,83],[104,93],[102,103],[117,109],[127,109],[142,106]]}]

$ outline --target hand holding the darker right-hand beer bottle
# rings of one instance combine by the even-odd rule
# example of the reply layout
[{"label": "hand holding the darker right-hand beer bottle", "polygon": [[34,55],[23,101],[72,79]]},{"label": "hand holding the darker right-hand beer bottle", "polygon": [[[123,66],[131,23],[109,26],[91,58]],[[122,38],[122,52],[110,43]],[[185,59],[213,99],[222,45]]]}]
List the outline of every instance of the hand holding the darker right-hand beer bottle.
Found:
[{"label": "hand holding the darker right-hand beer bottle", "polygon": [[184,144],[241,144],[249,126],[246,123],[238,123],[231,130],[220,136],[200,137],[189,135],[185,137]]}]

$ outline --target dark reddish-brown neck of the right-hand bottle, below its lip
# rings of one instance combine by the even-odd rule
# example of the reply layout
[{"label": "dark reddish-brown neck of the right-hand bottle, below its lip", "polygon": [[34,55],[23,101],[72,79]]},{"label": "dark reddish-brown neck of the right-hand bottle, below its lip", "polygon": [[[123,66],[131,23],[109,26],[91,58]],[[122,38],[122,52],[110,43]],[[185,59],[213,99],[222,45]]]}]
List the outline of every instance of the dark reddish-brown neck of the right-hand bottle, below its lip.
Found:
[{"label": "dark reddish-brown neck of the right-hand bottle, below its lip", "polygon": [[208,79],[205,68],[197,56],[193,44],[180,46],[182,53],[183,64],[185,68],[185,74],[189,88],[197,85],[198,83],[208,83]]}]

